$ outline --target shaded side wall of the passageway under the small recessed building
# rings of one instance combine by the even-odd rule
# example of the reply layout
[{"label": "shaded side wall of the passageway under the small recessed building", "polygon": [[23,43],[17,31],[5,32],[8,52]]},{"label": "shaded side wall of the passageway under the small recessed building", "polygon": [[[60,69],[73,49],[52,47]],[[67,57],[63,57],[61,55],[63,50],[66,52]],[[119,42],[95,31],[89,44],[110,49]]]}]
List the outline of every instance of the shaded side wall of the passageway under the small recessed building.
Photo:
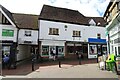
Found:
[{"label": "shaded side wall of the passageway under the small recessed building", "polygon": [[17,61],[29,58],[31,56],[29,45],[18,45]]}]

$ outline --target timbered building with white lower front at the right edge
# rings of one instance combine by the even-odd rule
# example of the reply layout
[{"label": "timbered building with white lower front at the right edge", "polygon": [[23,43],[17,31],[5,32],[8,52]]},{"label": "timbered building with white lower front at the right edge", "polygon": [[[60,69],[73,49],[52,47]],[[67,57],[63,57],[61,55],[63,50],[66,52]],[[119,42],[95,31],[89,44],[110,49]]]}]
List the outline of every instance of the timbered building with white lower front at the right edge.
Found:
[{"label": "timbered building with white lower front at the right edge", "polygon": [[120,2],[111,1],[104,14],[107,21],[106,38],[108,43],[108,52],[115,55],[120,54]]}]

